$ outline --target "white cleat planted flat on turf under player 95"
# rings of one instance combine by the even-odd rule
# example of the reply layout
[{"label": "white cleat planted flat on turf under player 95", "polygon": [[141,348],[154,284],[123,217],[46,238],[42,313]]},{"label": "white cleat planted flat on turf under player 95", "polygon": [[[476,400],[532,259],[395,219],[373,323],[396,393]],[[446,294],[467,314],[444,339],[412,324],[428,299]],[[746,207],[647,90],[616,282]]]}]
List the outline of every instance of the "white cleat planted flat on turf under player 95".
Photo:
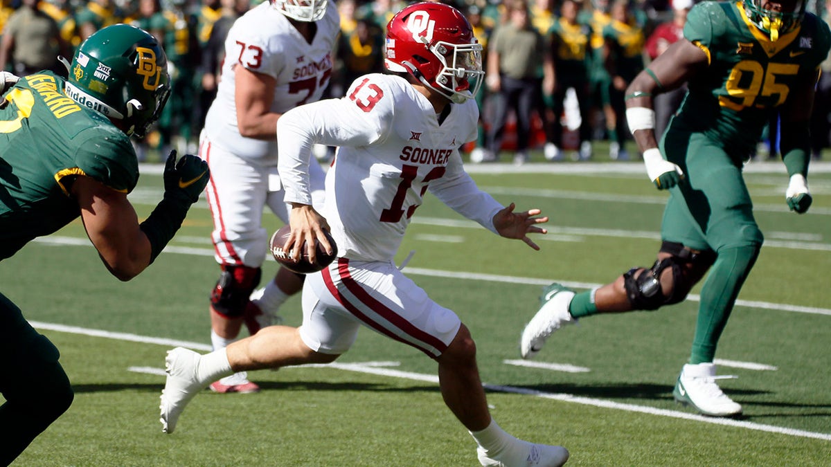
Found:
[{"label": "white cleat planted flat on turf under player 95", "polygon": [[681,369],[672,396],[681,404],[693,406],[704,415],[740,415],[741,406],[715,384],[715,380],[733,377],[735,376],[715,376],[715,363],[688,363]]}]

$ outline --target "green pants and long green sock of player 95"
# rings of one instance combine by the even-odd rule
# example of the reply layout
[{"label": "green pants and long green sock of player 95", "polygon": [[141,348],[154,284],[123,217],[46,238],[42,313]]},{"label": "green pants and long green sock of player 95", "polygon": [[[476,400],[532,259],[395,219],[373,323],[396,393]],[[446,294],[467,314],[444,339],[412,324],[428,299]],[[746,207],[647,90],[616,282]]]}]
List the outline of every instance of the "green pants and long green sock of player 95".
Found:
[{"label": "green pants and long green sock of player 95", "polygon": [[713,361],[736,297],[764,241],[741,165],[704,135],[674,130],[661,141],[685,180],[670,190],[661,238],[718,258],[701,288],[691,363]]}]

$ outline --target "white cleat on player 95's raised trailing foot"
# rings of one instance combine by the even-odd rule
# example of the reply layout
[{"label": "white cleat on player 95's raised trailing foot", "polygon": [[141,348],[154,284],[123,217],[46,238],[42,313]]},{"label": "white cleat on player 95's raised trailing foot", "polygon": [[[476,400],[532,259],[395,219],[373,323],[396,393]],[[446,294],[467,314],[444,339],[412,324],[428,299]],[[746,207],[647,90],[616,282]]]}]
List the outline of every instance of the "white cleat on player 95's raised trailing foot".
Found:
[{"label": "white cleat on player 95's raised trailing foot", "polygon": [[525,358],[533,358],[542,350],[548,336],[566,324],[577,322],[577,319],[568,312],[568,304],[574,297],[573,290],[558,283],[549,285],[539,297],[541,306],[537,314],[525,325],[522,337],[519,339],[519,354]]}]

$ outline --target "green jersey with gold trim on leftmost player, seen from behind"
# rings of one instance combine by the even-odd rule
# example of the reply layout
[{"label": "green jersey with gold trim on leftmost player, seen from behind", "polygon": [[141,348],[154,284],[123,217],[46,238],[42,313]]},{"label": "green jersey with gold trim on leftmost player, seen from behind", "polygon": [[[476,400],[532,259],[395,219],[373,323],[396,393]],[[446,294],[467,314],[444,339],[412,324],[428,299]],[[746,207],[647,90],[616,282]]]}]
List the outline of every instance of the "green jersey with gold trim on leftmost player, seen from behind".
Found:
[{"label": "green jersey with gold trim on leftmost player, seen from behind", "polygon": [[86,175],[130,193],[139,178],[129,136],[64,93],[51,72],[25,76],[0,109],[0,259],[81,211],[71,181]]}]

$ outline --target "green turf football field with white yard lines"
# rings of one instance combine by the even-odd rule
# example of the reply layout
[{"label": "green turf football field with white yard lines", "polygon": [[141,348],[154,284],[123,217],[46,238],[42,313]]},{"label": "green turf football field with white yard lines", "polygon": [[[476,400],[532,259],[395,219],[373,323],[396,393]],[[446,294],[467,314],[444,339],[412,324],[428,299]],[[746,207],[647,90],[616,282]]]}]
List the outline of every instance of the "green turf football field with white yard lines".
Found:
[{"label": "green turf football field with white yard lines", "polygon": [[[798,216],[784,204],[781,164],[748,168],[766,243],[717,353],[719,373],[739,376],[720,386],[745,408],[723,420],[671,396],[699,288],[659,312],[583,319],[548,341],[539,366],[519,361],[519,333],[543,285],[590,288],[652,264],[666,194],[640,163],[470,169],[504,204],[551,217],[542,251],[496,237],[428,195],[397,259],[415,250],[405,272],[470,327],[505,430],[566,446],[568,465],[831,465],[831,170],[812,172],[814,206]],[[130,198],[141,217],[161,185],[151,170],[142,175]],[[368,329],[332,366],[253,372],[258,394],[205,391],[175,433],[163,434],[165,351],[209,348],[218,276],[210,229],[200,202],[130,283],[106,272],[80,222],[2,263],[0,290],[56,343],[76,391],[14,465],[477,465],[474,441],[441,401],[435,363]],[[268,277],[276,263],[265,268]],[[288,324],[299,323],[299,304],[293,297],[283,308]]]}]

